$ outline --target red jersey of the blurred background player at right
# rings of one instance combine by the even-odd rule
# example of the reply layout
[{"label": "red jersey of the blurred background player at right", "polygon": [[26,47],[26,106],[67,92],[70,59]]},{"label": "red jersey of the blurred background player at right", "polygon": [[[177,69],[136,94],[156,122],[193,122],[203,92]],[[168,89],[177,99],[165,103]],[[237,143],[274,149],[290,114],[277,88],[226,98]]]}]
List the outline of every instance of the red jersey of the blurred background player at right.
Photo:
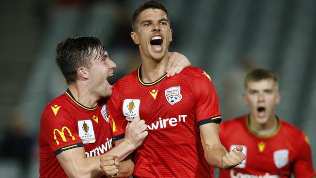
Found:
[{"label": "red jersey of the blurred background player at right", "polygon": [[278,118],[275,133],[260,137],[248,125],[248,116],[220,125],[219,136],[227,150],[244,147],[246,160],[231,170],[220,170],[220,178],[312,178],[315,171],[306,135]]}]

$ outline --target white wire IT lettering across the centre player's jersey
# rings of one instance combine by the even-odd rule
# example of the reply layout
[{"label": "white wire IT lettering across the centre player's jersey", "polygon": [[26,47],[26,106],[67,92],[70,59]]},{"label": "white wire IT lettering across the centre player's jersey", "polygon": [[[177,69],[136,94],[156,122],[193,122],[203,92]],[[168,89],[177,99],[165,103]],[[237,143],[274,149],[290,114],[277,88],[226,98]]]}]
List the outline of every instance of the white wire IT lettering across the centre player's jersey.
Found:
[{"label": "white wire IT lettering across the centre player's jersey", "polygon": [[176,126],[178,125],[178,122],[184,122],[185,123],[185,118],[188,115],[178,115],[178,118],[172,117],[172,118],[166,118],[162,119],[159,117],[159,120],[156,121],[156,123],[152,123],[151,125],[147,125],[149,130],[156,130],[158,128],[166,128],[167,126]]}]

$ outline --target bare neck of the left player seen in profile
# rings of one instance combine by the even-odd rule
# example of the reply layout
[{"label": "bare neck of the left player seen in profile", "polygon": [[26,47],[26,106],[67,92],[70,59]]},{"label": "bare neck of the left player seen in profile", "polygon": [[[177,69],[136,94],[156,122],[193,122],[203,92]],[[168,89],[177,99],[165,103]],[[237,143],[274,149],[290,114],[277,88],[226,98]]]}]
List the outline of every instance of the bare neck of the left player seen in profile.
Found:
[{"label": "bare neck of the left player seen in profile", "polygon": [[80,82],[68,86],[74,99],[85,107],[95,107],[98,105],[98,98],[87,87],[83,87]]}]

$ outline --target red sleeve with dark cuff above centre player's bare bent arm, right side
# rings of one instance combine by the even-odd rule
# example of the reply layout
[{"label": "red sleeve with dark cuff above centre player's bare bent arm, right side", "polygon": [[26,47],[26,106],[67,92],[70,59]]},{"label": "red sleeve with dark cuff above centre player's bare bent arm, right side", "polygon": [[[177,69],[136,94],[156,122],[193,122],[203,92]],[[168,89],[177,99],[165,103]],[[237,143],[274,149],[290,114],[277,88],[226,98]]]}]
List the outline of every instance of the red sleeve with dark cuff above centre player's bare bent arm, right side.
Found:
[{"label": "red sleeve with dark cuff above centre player's bare bent arm, right side", "polygon": [[211,77],[203,70],[196,71],[194,77],[195,89],[195,117],[197,124],[220,123],[219,100]]}]

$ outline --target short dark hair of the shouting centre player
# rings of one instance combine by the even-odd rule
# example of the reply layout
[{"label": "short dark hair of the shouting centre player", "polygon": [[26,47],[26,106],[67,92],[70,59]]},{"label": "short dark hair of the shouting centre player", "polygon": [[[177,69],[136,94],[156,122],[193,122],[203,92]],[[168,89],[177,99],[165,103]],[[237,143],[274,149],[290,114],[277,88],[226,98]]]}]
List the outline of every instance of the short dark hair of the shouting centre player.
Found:
[{"label": "short dark hair of the shouting centre player", "polygon": [[169,16],[168,16],[168,11],[165,8],[165,6],[163,6],[161,3],[159,3],[157,0],[148,0],[143,2],[142,4],[140,4],[140,6],[138,6],[138,8],[136,9],[136,11],[133,14],[133,18],[132,18],[132,28],[133,31],[136,32],[137,29],[137,23],[138,23],[138,18],[140,17],[140,13],[146,9],[161,9],[163,10],[166,15],[167,18],[169,20]]}]

